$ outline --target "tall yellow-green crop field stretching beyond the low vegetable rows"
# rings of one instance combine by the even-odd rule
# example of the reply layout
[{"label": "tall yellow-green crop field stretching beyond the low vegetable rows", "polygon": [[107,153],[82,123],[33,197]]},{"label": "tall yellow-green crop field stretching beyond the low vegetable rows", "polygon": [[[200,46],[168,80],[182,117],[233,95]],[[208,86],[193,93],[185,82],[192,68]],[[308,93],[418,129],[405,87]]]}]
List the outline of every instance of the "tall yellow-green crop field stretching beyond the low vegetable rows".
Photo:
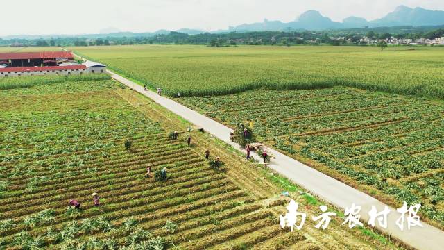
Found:
[{"label": "tall yellow-green crop field stretching beyond the low vegetable rows", "polygon": [[255,88],[345,85],[444,98],[439,47],[272,47],[143,45],[71,48],[165,94],[232,94]]}]

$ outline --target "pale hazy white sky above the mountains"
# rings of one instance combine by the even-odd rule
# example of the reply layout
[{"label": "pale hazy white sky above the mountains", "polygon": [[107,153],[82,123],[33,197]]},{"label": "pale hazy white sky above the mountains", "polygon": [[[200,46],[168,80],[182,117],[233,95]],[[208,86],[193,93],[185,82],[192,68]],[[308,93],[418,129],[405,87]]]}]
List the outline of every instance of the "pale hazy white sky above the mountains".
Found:
[{"label": "pale hazy white sky above the mountains", "polygon": [[108,27],[210,31],[264,18],[289,22],[306,10],[334,21],[350,15],[371,20],[399,5],[444,10],[443,0],[4,0],[0,36],[99,33]]}]

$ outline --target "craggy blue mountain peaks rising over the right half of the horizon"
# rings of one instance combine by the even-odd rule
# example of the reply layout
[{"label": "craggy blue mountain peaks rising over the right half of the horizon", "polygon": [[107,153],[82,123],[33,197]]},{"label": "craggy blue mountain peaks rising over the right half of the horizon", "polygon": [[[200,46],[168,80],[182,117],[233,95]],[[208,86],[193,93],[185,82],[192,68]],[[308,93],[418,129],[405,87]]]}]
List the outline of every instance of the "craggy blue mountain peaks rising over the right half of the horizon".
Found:
[{"label": "craggy blue mountain peaks rising over the right half of the horizon", "polygon": [[385,17],[367,21],[361,17],[348,17],[343,22],[333,22],[329,17],[324,17],[316,10],[304,12],[293,22],[268,21],[255,24],[242,24],[231,26],[230,31],[284,31],[287,28],[295,30],[324,31],[342,28],[375,28],[391,26],[439,26],[444,24],[444,11],[426,10],[424,8],[409,8],[398,6],[395,11]]}]

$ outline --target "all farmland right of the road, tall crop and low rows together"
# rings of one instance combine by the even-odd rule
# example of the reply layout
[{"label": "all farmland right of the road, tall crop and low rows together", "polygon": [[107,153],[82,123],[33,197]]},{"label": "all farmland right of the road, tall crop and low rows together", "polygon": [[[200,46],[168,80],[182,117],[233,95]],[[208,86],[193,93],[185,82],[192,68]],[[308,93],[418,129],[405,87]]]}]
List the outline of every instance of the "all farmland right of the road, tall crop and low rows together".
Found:
[{"label": "all farmland right of the road, tall crop and low rows together", "polygon": [[73,49],[231,128],[250,124],[257,141],[393,207],[421,203],[444,226],[442,49]]}]

